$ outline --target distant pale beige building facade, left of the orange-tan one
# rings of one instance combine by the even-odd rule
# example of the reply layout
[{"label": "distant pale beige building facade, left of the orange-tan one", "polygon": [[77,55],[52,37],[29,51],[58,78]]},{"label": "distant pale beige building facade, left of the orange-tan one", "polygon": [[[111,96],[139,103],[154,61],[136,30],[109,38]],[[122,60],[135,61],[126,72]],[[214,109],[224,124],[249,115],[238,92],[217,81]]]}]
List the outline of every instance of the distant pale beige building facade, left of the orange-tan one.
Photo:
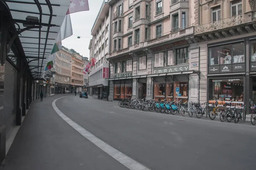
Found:
[{"label": "distant pale beige building facade, left of the orange-tan one", "polygon": [[55,94],[71,92],[72,53],[66,47],[57,52],[55,62]]}]

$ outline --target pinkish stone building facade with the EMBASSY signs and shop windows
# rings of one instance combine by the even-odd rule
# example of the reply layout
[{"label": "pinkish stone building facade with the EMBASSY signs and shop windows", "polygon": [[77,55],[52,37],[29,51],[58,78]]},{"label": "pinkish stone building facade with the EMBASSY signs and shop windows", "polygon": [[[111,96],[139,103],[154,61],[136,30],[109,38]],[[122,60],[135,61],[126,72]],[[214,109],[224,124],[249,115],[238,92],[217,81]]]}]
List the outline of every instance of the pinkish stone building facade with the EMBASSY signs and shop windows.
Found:
[{"label": "pinkish stone building facade with the EMBASSY signs and shop windows", "polygon": [[[109,0],[109,100],[199,98],[191,0]],[[175,92],[179,89],[178,94]]]}]

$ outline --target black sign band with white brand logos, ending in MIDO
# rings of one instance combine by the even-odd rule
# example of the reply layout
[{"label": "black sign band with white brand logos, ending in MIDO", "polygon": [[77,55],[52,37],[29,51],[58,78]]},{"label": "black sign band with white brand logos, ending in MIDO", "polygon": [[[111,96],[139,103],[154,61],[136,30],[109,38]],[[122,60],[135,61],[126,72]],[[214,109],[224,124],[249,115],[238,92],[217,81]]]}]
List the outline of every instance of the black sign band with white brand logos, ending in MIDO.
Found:
[{"label": "black sign band with white brand logos, ending in MIDO", "polygon": [[225,74],[245,71],[245,63],[236,63],[228,65],[211,65],[208,67],[208,74]]}]

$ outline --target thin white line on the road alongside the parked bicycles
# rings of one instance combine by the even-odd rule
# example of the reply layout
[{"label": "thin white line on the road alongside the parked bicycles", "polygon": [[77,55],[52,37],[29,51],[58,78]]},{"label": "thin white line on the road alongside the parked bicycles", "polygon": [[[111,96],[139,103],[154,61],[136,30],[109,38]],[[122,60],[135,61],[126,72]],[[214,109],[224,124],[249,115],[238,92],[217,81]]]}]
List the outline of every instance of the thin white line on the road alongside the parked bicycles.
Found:
[{"label": "thin white line on the road alongside the parked bicycles", "polygon": [[[115,106],[114,108],[120,108],[120,109],[126,109],[126,110],[131,110],[131,109],[128,109],[128,108],[121,108],[119,106]],[[217,122],[217,123],[227,123],[229,125],[240,125],[240,126],[249,126],[249,127],[256,127],[256,126],[253,126],[253,125],[241,125],[241,124],[234,124],[234,123],[229,123],[229,122],[218,122],[218,121],[214,121],[214,120],[205,120],[205,119],[196,119],[196,118],[192,118],[192,117],[184,117],[184,116],[175,116],[175,115],[172,115],[172,114],[161,114],[161,113],[154,113],[154,112],[149,112],[149,111],[140,111],[140,110],[133,110],[133,111],[138,111],[138,112],[143,112],[143,113],[151,113],[151,114],[157,114],[157,115],[163,115],[163,116],[174,116],[174,117],[177,117],[177,118],[184,118],[184,119],[193,119],[193,120],[199,120],[199,121],[208,121],[208,122]]]}]

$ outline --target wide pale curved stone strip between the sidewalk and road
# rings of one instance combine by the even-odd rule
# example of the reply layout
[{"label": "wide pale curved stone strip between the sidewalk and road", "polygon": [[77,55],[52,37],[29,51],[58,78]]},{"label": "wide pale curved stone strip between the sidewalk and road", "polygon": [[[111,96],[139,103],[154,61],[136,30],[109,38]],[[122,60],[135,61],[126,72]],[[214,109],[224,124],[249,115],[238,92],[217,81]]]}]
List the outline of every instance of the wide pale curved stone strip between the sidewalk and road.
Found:
[{"label": "wide pale curved stone strip between the sidewalk and road", "polygon": [[[68,96],[64,96],[68,97]],[[58,99],[64,98],[60,97]],[[151,170],[148,167],[145,167],[145,165],[141,164],[138,161],[135,161],[131,157],[125,155],[124,153],[120,152],[119,150],[116,150],[115,148],[111,147],[109,144],[105,143],[101,139],[94,136],[92,133],[84,129],[84,127],[81,127],[76,122],[74,122],[72,119],[67,117],[64,113],[62,113],[58,107],[56,106],[56,101],[58,99],[55,99],[52,102],[52,107],[55,110],[56,113],[58,113],[61,118],[66,121],[71,127],[73,127],[76,131],[78,131],[82,136],[84,136],[86,139],[88,139],[90,142],[95,144],[97,147],[102,149],[105,153],[108,153],[108,155],[112,156],[114,159],[119,161],[121,164],[123,164],[125,167],[127,167],[130,170]]]}]

